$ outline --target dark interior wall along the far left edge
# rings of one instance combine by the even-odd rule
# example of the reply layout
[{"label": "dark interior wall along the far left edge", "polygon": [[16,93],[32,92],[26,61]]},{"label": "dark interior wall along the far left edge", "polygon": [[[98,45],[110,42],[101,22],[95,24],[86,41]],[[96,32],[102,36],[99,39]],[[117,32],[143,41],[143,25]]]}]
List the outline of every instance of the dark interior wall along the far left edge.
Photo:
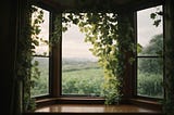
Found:
[{"label": "dark interior wall along the far left edge", "polygon": [[16,35],[16,0],[4,0],[0,10],[0,51],[1,51],[1,114],[11,112],[12,80],[14,77],[14,54]]}]

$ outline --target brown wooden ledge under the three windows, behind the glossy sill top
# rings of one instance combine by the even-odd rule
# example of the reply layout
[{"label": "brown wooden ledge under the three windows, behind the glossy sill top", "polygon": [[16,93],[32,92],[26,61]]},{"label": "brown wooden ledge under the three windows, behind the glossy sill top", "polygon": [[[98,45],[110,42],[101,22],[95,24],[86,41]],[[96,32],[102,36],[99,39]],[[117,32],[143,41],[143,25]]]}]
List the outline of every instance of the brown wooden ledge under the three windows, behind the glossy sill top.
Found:
[{"label": "brown wooden ledge under the three windows, behind the glossy sill top", "polygon": [[[45,98],[36,100],[37,107],[42,107],[52,104],[104,104],[104,99],[99,97],[60,97]],[[154,111],[162,111],[162,104],[157,100],[146,98],[134,98],[126,101],[124,104],[133,104]]]}]

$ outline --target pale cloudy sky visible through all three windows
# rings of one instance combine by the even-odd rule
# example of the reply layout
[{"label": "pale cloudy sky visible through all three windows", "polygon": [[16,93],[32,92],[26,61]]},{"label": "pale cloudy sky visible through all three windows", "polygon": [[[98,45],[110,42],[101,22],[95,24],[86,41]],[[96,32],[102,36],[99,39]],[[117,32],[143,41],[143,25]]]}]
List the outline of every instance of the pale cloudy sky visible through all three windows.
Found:
[{"label": "pale cloudy sky visible through all three windows", "polygon": [[[162,8],[160,8],[162,9]],[[142,47],[147,46],[150,39],[158,34],[162,33],[162,24],[156,27],[153,21],[150,18],[150,13],[156,12],[157,8],[150,8],[137,12],[137,37],[138,43]],[[41,34],[39,35],[44,39],[49,38],[49,12],[45,11],[45,23],[41,25]],[[92,46],[89,42],[85,42],[85,35],[82,34],[76,25],[72,25],[67,31],[62,34],[62,56],[63,58],[76,58],[76,59],[94,59],[97,58],[91,54],[89,48]],[[48,52],[48,47],[40,44],[37,48],[38,53]]]}]

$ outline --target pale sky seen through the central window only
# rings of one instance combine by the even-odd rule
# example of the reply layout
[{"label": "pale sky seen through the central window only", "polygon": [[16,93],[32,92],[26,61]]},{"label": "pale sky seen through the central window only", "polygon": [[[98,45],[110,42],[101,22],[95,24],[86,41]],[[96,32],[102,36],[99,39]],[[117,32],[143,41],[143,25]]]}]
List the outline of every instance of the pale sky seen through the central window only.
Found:
[{"label": "pale sky seen through the central window only", "polygon": [[62,34],[62,56],[96,59],[89,51],[92,46],[84,40],[85,34],[79,31],[78,26],[72,24],[69,30]]}]

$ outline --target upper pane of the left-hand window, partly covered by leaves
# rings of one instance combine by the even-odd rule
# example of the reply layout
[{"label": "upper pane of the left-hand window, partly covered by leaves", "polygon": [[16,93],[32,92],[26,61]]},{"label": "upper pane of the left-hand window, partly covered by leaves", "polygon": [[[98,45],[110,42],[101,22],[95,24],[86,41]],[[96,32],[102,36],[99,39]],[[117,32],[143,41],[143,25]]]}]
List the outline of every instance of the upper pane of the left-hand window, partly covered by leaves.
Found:
[{"label": "upper pane of the left-hand window, partly covered by leaves", "polygon": [[[35,48],[35,55],[49,55],[49,46],[46,41],[49,41],[49,15],[50,13],[44,9],[37,8],[38,11],[44,12],[44,23],[39,24],[40,34],[38,37],[39,46]],[[38,13],[33,13],[33,21],[36,18]]]}]

